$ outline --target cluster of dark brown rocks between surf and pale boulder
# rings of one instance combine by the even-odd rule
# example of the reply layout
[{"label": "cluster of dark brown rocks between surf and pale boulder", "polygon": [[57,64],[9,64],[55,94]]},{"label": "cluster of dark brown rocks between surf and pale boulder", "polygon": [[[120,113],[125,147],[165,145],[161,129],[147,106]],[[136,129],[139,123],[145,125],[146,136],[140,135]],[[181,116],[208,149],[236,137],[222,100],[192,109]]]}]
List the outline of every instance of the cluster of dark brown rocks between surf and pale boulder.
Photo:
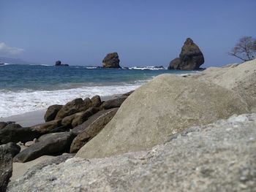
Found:
[{"label": "cluster of dark brown rocks between surf and pale boulder", "polygon": [[[6,188],[7,182],[4,182],[12,174],[12,157],[14,162],[24,163],[42,155],[76,153],[105,127],[131,93],[107,101],[94,96],[74,99],[64,105],[54,104],[45,112],[45,123],[31,127],[0,122],[0,163],[6,173],[0,177],[2,188]],[[15,143],[26,148],[20,152]]]}]

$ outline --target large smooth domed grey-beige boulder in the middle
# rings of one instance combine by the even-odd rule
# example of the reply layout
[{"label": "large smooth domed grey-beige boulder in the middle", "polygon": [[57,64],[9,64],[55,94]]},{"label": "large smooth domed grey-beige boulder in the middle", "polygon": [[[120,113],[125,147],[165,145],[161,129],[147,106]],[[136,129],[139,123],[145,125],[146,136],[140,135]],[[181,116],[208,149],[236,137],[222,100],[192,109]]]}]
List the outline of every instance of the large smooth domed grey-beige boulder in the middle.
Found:
[{"label": "large smooth domed grey-beige boulder in the middle", "polygon": [[248,112],[232,91],[211,82],[162,74],[135,90],[107,126],[77,153],[101,158],[146,150],[189,126]]}]

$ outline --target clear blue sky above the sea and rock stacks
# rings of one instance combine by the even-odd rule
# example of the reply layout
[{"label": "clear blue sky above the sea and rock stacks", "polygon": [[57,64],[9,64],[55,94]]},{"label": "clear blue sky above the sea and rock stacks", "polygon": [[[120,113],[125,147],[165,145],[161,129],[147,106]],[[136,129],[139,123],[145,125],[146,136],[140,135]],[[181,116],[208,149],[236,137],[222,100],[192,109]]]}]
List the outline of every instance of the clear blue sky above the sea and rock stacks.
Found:
[{"label": "clear blue sky above the sea and rock stacks", "polygon": [[41,64],[101,65],[118,52],[121,66],[167,66],[187,37],[203,66],[238,62],[227,55],[256,35],[255,0],[0,0],[0,56]]}]

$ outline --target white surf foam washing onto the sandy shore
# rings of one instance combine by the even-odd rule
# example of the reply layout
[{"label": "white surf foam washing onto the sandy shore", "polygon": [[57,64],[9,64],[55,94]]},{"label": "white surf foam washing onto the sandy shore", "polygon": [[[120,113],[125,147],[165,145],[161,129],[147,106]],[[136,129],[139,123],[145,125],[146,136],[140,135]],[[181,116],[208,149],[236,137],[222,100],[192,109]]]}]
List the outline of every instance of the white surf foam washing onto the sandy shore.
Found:
[{"label": "white surf foam washing onto the sandy shore", "polygon": [[145,81],[135,85],[85,86],[57,91],[0,91],[0,117],[19,115],[24,112],[42,110],[52,104],[66,104],[75,98],[86,98],[94,95],[111,96],[135,90]]}]

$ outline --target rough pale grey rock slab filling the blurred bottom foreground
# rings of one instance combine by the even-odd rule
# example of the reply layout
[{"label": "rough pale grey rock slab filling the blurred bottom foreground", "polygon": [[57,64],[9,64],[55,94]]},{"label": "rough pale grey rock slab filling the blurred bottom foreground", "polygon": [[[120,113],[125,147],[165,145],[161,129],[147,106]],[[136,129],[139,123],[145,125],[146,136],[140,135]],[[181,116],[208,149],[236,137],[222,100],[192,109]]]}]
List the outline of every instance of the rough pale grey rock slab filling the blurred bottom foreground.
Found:
[{"label": "rough pale grey rock slab filling the blurred bottom foreground", "polygon": [[7,191],[256,191],[255,126],[255,114],[234,115],[148,151],[45,166]]}]

